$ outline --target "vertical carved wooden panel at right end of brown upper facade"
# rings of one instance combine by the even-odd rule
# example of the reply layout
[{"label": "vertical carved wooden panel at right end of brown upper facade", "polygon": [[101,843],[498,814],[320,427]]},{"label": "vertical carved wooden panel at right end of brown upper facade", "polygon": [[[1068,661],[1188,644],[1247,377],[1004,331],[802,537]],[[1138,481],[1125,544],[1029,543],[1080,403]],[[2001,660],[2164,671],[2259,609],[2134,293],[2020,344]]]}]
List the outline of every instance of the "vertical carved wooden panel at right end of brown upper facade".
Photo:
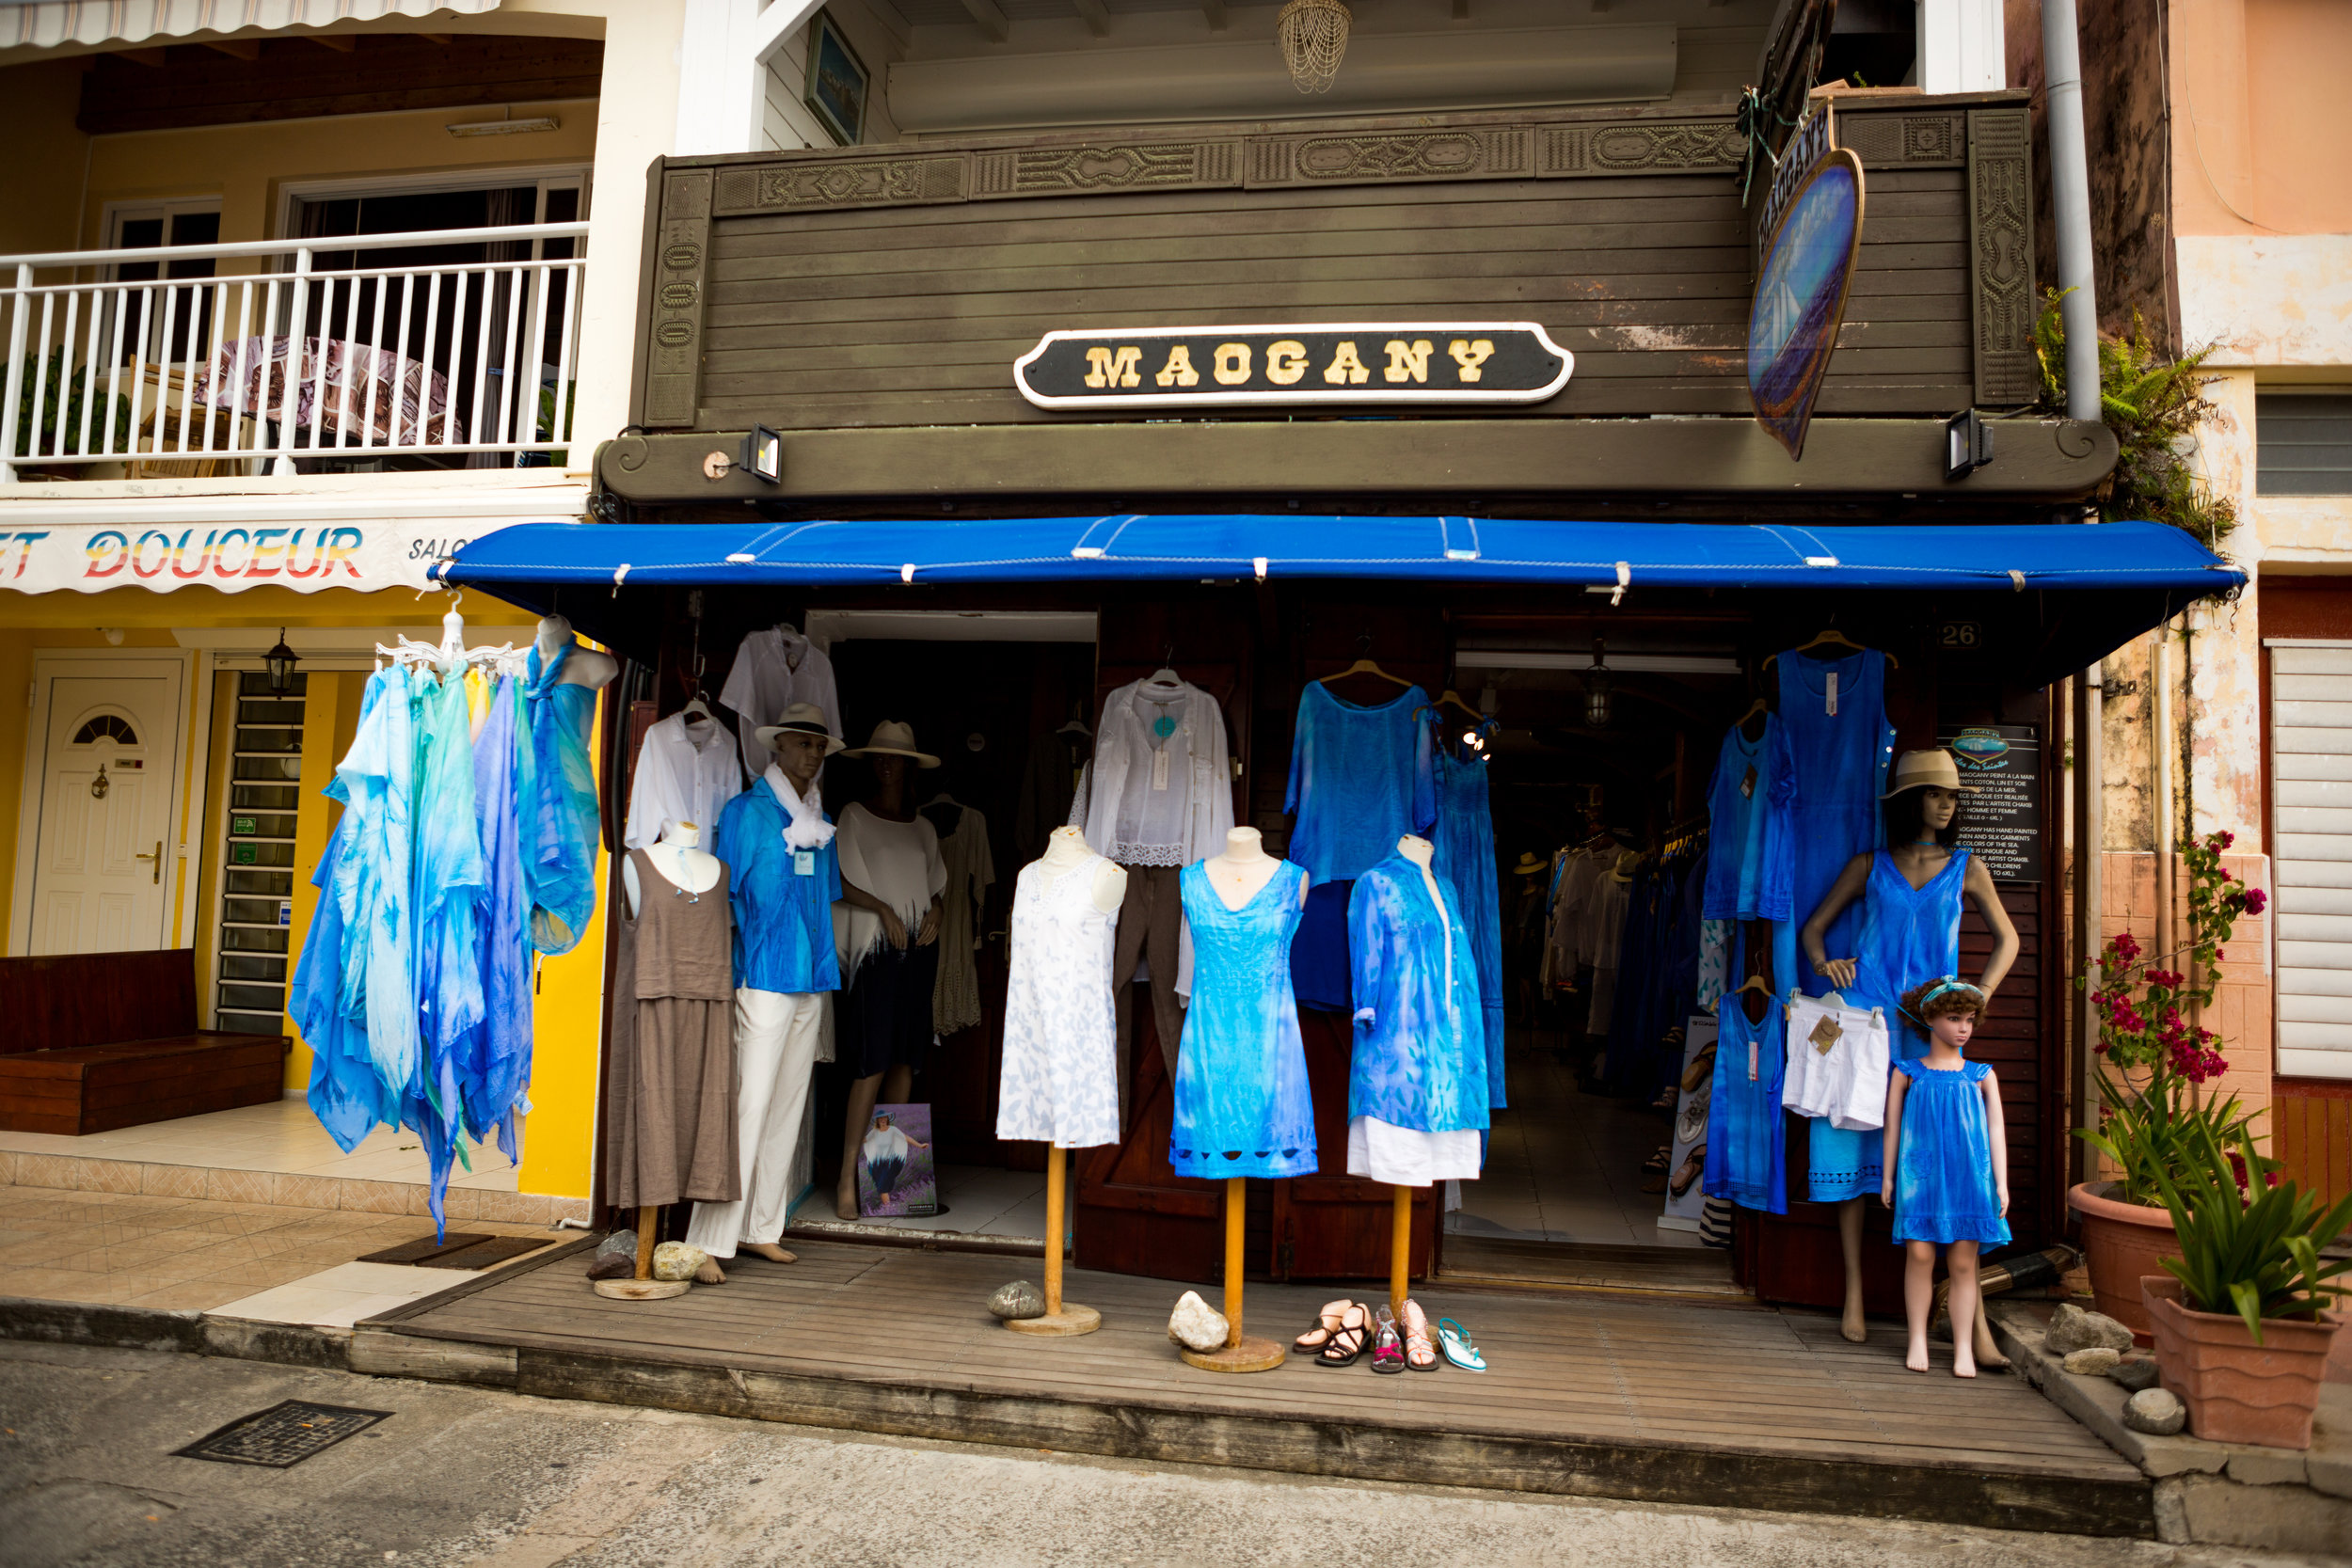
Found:
[{"label": "vertical carved wooden panel at right end of brown upper facade", "polygon": [[1969,110],[1969,294],[1980,404],[2032,402],[2042,390],[2032,353],[2030,134],[2032,125],[2023,108]]}]

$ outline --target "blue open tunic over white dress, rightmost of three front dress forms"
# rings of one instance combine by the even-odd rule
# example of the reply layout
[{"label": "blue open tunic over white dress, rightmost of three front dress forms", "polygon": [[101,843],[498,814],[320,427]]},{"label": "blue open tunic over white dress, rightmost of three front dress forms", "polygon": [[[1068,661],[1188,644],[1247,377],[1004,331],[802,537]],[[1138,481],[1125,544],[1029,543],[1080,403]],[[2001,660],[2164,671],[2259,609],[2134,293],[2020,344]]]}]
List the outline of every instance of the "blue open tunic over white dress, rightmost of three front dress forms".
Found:
[{"label": "blue open tunic over white dress, rightmost of three front dress forms", "polygon": [[1348,1119],[1378,1117],[1421,1133],[1486,1126],[1486,1018],[1477,954],[1454,889],[1437,898],[1421,867],[1392,853],[1348,898],[1355,959],[1355,1058]]}]

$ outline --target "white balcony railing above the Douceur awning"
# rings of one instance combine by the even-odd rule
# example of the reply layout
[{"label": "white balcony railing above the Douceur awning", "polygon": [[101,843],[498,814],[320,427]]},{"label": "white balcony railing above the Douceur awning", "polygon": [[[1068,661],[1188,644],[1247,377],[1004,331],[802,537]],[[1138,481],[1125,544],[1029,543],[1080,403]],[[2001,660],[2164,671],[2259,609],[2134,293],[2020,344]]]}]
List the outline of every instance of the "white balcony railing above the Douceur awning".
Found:
[{"label": "white balcony railing above the Douceur awning", "polygon": [[0,256],[0,482],[546,463],[572,440],[586,237]]}]

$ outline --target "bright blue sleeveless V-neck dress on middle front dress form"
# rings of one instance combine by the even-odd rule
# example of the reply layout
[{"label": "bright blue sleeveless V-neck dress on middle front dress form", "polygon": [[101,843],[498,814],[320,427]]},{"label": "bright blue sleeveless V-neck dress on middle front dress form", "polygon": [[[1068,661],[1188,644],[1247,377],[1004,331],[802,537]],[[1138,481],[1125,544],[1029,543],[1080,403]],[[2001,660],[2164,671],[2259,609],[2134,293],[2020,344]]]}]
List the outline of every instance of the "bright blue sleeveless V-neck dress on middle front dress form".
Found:
[{"label": "bright blue sleeveless V-neck dress on middle front dress form", "polygon": [[1176,1053],[1169,1164],[1178,1175],[1308,1175],[1315,1100],[1291,997],[1291,936],[1305,877],[1284,860],[1240,910],[1209,884],[1207,860],[1176,886],[1192,924],[1192,1006]]}]

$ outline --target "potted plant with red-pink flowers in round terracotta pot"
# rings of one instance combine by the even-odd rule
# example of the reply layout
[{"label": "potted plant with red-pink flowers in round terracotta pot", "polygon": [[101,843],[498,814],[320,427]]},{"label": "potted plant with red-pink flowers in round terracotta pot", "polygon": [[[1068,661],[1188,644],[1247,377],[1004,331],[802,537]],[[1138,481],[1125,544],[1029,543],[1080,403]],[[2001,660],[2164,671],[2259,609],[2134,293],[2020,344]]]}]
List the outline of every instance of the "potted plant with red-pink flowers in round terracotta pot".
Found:
[{"label": "potted plant with red-pink flowers in round terracotta pot", "polygon": [[[2220,1037],[2190,1023],[2192,1009],[2213,1004],[2216,964],[2239,914],[2263,912],[2263,891],[2237,882],[2220,863],[2232,837],[2216,832],[2190,844],[2180,860],[2190,877],[2190,933],[2176,954],[2145,952],[2131,931],[2098,954],[2091,985],[2103,1058],[2098,1074],[2100,1121],[2079,1133],[2117,1168],[2114,1180],[2082,1182],[2067,1206],[2082,1215],[2082,1244],[2091,1267],[2098,1309],[2150,1335],[2140,1305],[2140,1279],[2157,1274],[2157,1260],[2173,1255],[2173,1222],[2164,1211],[2164,1178],[2201,1159],[2201,1138],[2230,1147],[2249,1135],[2251,1114],[2237,1095],[2206,1093],[2227,1070]],[[2178,961],[2164,969],[2159,959]],[[2274,1161],[2256,1161],[2249,1178]]]}]

